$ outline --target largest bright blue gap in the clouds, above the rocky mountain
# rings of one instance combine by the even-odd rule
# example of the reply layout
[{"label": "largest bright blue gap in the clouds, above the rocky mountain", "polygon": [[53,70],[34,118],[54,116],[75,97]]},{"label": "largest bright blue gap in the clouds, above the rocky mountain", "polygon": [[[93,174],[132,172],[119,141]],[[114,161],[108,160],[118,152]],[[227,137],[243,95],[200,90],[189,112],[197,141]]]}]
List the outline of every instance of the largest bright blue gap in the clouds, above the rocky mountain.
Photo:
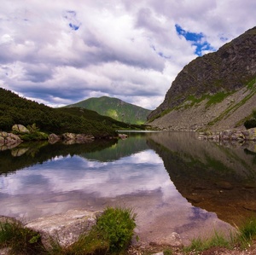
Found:
[{"label": "largest bright blue gap in the clouds, above the rocky mountain", "polygon": [[185,31],[181,26],[175,25],[176,32],[179,36],[183,36],[187,41],[191,42],[193,46],[195,46],[195,54],[202,55],[202,51],[210,50],[215,51],[215,49],[211,46],[210,43],[207,42],[205,36],[202,32],[188,32]]}]

